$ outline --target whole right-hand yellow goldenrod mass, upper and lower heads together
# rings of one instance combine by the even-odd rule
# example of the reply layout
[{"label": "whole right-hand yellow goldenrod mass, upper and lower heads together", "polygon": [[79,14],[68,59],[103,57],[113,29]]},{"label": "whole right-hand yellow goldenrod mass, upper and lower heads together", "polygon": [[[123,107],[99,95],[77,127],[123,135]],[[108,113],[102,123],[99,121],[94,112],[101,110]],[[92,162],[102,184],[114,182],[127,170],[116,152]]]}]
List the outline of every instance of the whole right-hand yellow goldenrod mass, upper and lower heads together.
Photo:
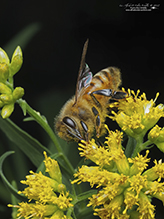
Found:
[{"label": "whole right-hand yellow goldenrod mass, upper and lower heads together", "polygon": [[[136,151],[140,152],[152,143],[163,151],[164,131],[158,126],[152,128],[164,116],[163,105],[155,106],[155,100],[148,101],[145,94],[138,96],[139,91],[135,94],[129,90],[128,94],[125,101],[114,103],[118,112],[113,112],[112,119],[136,140]],[[98,146],[94,139],[79,144],[80,155],[95,165],[79,168],[74,175],[77,179],[72,183],[89,182],[91,187],[98,188],[97,194],[89,198],[88,206],[92,206],[94,214],[102,219],[155,218],[155,206],[151,200],[158,198],[164,204],[164,163],[161,159],[155,160],[154,166],[147,169],[149,150],[144,156],[134,153],[128,158],[122,146],[123,133],[110,131],[107,126],[106,129],[108,137],[103,147]],[[143,137],[149,129],[145,144]]]}]

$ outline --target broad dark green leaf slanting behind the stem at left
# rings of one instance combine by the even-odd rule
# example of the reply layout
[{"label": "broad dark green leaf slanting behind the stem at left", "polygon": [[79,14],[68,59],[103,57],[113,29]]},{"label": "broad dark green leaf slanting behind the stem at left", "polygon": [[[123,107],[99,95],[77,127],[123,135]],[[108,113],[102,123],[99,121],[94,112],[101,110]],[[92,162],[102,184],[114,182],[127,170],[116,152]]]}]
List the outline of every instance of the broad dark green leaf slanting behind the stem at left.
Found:
[{"label": "broad dark green leaf slanting behind the stem at left", "polygon": [[20,129],[10,119],[0,117],[0,129],[26,154],[36,167],[43,161],[43,151],[51,154],[38,140]]}]

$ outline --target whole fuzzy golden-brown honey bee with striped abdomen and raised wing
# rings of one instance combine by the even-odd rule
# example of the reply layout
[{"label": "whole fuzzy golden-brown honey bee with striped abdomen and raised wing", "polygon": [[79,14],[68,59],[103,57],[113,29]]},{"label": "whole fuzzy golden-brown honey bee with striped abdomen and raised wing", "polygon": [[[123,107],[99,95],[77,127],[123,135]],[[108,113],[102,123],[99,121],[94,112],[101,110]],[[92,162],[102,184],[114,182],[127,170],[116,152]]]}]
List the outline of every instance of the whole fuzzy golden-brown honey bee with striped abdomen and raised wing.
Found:
[{"label": "whole fuzzy golden-brown honey bee with striped abdomen and raised wing", "polygon": [[89,141],[95,132],[97,138],[102,136],[110,100],[127,95],[118,90],[121,84],[118,68],[108,67],[92,76],[85,63],[87,47],[88,40],[83,47],[75,96],[65,103],[56,118],[55,130],[66,141]]}]

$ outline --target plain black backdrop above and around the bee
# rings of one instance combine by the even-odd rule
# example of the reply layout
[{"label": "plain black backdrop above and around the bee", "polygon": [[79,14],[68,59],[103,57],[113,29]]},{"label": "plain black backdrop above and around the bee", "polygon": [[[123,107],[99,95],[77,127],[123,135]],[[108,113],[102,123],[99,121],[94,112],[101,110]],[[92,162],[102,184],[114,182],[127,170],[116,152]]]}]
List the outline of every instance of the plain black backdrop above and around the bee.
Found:
[{"label": "plain black backdrop above and around the bee", "polygon": [[[0,47],[7,48],[10,40],[30,24],[38,29],[26,47],[20,43],[24,63],[15,76],[15,86],[24,87],[24,99],[44,114],[52,127],[61,106],[74,94],[87,38],[86,62],[93,73],[108,66],[119,67],[123,87],[140,89],[148,99],[159,91],[157,104],[164,102],[163,5],[158,3],[159,7],[152,11],[132,12],[126,11],[125,3],[118,0],[1,2]],[[46,142],[36,124],[22,122],[19,107],[11,119]]]}]

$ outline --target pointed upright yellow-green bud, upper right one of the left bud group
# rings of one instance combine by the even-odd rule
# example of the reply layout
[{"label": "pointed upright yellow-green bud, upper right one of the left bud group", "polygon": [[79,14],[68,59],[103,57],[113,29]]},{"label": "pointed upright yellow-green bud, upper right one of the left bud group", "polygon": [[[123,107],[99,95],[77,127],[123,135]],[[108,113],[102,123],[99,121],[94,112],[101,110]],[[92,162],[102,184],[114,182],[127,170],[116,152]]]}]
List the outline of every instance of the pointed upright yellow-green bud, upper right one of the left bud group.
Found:
[{"label": "pointed upright yellow-green bud, upper right one of the left bud group", "polygon": [[17,46],[15,49],[12,59],[11,59],[11,64],[10,64],[10,77],[15,75],[19,69],[21,68],[23,63],[23,55],[22,55],[22,50],[20,46]]}]

